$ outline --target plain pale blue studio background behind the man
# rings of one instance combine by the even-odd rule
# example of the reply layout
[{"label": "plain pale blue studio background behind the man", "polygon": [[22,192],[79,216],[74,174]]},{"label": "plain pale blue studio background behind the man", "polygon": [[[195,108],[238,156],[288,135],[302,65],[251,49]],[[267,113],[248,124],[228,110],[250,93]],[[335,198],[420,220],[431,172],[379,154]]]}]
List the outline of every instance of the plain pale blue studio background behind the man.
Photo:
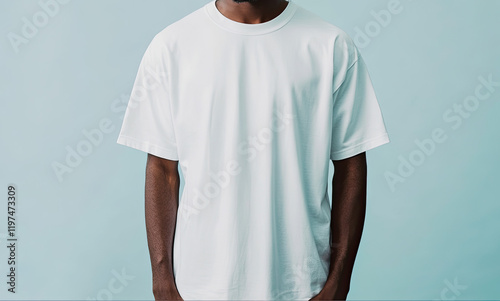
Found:
[{"label": "plain pale blue studio background behind the man", "polygon": [[[153,36],[207,3],[77,1],[14,51],[9,32],[38,1],[0,2],[0,298],[153,299],[144,224],[146,154],[116,144],[122,111]],[[296,0],[355,37],[390,1]],[[360,47],[391,143],[368,152],[365,232],[350,299],[500,298],[500,88],[457,129],[443,114],[500,82],[500,2],[401,0],[387,27]],[[361,46],[361,45],[359,45]],[[486,91],[486,90],[485,90]],[[109,119],[88,157],[58,181],[53,162]],[[414,140],[438,143],[393,189]],[[333,170],[331,170],[332,172]],[[331,174],[330,174],[331,176]],[[7,185],[18,188],[18,294],[6,292]],[[181,187],[182,189],[182,187]],[[115,272],[114,272],[115,271]],[[134,278],[116,282],[116,272]],[[460,289],[450,289],[456,281]]]}]

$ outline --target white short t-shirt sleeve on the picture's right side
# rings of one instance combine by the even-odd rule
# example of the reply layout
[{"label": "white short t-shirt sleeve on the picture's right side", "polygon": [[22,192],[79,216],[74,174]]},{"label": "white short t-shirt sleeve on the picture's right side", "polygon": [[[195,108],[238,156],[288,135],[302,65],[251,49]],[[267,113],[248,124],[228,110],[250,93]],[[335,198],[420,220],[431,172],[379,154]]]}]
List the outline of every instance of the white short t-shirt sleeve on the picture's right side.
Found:
[{"label": "white short t-shirt sleeve on the picture's right side", "polygon": [[342,160],[390,142],[370,75],[355,46],[353,63],[333,93],[331,160]]}]

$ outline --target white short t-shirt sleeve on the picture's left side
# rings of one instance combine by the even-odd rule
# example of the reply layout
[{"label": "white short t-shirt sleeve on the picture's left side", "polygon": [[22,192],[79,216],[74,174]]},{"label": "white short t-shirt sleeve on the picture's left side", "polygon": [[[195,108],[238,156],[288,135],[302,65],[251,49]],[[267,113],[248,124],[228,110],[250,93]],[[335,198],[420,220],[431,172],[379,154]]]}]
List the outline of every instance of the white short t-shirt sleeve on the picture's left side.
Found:
[{"label": "white short t-shirt sleeve on the picture's left side", "polygon": [[177,161],[168,93],[166,46],[157,36],[139,65],[117,143]]}]

